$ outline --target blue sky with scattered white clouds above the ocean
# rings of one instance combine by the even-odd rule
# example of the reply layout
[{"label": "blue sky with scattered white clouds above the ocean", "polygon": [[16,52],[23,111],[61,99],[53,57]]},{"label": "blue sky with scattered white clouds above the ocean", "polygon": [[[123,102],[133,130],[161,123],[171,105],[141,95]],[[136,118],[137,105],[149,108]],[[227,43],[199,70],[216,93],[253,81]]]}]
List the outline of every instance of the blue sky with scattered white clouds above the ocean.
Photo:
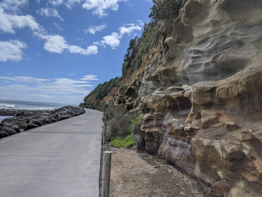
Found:
[{"label": "blue sky with scattered white clouds above the ocean", "polygon": [[0,99],[79,104],[122,76],[151,0],[0,0]]}]

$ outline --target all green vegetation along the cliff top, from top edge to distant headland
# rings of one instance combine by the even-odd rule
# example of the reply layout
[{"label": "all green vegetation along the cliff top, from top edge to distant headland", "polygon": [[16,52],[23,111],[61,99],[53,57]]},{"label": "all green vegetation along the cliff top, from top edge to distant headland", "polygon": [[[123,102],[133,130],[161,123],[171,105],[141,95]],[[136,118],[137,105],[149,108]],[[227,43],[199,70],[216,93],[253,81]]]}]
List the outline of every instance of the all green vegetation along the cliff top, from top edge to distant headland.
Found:
[{"label": "all green vegetation along the cliff top, from top edge to distant headland", "polygon": [[[153,0],[153,6],[149,23],[144,23],[141,36],[134,37],[130,40],[127,52],[124,55],[122,64],[122,77],[116,77],[108,82],[99,84],[92,92],[84,98],[84,103],[80,107],[91,108],[91,104],[86,103],[86,100],[91,95],[95,95],[96,100],[104,98],[112,87],[117,86],[119,93],[124,94],[127,88],[125,85],[120,87],[120,83],[125,77],[127,70],[131,68],[133,71],[140,67],[144,54],[150,52],[150,49],[159,44],[159,39],[163,31],[169,31],[172,26],[172,21],[177,18],[182,0]],[[93,103],[92,103],[93,104]]]}]

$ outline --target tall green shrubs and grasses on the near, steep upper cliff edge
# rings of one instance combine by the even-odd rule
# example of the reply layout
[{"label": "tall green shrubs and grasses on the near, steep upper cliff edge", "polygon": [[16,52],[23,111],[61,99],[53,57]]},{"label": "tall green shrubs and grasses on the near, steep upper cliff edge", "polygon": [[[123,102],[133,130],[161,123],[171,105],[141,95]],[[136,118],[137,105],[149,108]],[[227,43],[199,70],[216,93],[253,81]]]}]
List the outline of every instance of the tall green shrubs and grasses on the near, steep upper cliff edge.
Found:
[{"label": "tall green shrubs and grasses on the near, steep upper cliff edge", "polygon": [[142,63],[142,56],[150,52],[150,49],[158,44],[163,31],[170,30],[172,21],[177,18],[182,0],[153,0],[149,17],[151,21],[144,23],[140,37],[130,40],[127,52],[122,64],[122,76],[125,76],[128,68],[138,68]]}]

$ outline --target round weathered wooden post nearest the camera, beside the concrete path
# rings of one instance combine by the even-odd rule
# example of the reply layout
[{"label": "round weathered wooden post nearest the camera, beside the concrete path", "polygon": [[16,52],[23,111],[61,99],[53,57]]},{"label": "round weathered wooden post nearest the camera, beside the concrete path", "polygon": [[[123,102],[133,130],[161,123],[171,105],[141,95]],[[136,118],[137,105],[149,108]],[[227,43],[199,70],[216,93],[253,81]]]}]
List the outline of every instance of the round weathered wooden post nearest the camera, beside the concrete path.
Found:
[{"label": "round weathered wooden post nearest the camera, beside the concrete path", "polygon": [[111,151],[104,152],[103,161],[103,174],[102,174],[102,197],[109,196],[109,186],[110,186],[110,171],[111,171]]}]

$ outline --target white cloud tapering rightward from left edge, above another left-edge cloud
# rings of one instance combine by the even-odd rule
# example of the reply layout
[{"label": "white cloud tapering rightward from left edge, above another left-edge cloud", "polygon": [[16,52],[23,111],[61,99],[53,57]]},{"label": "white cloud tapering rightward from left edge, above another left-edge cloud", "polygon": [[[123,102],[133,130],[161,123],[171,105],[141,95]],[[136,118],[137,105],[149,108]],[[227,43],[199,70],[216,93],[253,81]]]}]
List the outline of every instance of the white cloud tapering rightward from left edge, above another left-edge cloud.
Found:
[{"label": "white cloud tapering rightward from left edge, above another left-edge cloud", "polygon": [[42,27],[31,15],[19,16],[6,14],[0,7],[0,30],[5,33],[15,33],[14,28],[30,27],[32,31],[41,31]]}]

